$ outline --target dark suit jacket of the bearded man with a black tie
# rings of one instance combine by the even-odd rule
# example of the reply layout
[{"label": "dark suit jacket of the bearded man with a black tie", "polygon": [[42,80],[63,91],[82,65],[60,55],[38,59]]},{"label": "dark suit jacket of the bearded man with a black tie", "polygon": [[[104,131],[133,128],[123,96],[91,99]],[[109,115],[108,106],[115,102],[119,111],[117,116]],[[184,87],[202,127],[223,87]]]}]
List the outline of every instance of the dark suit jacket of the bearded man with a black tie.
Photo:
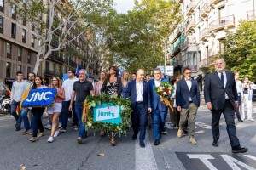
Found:
[{"label": "dark suit jacket of the bearded man with a black tie", "polygon": [[225,106],[225,93],[228,95],[231,104],[235,107],[238,101],[234,73],[225,71],[227,77],[226,87],[218,77],[217,71],[207,75],[205,79],[204,96],[206,103],[211,102],[213,110],[222,110]]}]

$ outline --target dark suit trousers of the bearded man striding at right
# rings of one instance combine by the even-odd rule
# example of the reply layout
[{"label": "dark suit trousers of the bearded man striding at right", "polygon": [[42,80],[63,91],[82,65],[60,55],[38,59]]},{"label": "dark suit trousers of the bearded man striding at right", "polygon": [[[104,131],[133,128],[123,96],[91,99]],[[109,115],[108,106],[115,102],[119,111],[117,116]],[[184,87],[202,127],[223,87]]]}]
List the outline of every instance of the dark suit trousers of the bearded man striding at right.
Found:
[{"label": "dark suit trousers of the bearded man striding at right", "polygon": [[236,125],[235,125],[235,109],[229,99],[225,100],[225,106],[223,110],[212,110],[212,135],[213,139],[219,139],[219,120],[221,113],[223,113],[226,129],[229,135],[230,144],[232,147],[239,146],[239,139],[236,137]]}]

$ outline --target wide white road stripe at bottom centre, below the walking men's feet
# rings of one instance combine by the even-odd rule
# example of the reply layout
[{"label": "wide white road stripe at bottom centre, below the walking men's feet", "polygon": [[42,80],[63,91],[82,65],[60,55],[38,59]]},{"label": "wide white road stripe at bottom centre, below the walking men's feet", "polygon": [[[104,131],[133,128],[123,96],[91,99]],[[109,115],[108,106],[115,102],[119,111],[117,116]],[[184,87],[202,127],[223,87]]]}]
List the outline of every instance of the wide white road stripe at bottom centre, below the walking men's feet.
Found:
[{"label": "wide white road stripe at bottom centre, below the walking men's feet", "polygon": [[[139,137],[139,135],[137,136]],[[139,139],[136,140],[135,144],[135,169],[136,170],[158,170],[156,165],[156,161],[154,158],[154,153],[152,150],[152,146],[148,139],[148,133],[146,133],[144,143],[146,145],[145,148],[141,148],[139,145]]]}]

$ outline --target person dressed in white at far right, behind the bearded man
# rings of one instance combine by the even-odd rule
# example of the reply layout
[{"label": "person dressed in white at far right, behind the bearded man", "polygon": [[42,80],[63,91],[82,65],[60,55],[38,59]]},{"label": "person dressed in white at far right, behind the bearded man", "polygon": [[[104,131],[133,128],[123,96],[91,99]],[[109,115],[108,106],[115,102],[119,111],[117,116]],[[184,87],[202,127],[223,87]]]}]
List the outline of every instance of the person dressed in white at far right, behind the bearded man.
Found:
[{"label": "person dressed in white at far right, behind the bearded man", "polygon": [[253,82],[249,81],[247,77],[244,78],[242,89],[244,95],[244,102],[242,104],[241,119],[245,119],[244,107],[247,106],[247,121],[254,121],[253,119]]}]

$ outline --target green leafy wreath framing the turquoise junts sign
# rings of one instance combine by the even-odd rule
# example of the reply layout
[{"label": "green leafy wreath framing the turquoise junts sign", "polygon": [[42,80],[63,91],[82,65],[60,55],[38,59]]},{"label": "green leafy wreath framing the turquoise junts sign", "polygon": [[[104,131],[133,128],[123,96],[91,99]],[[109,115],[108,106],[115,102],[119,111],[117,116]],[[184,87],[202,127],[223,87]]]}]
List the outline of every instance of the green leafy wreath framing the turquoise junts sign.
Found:
[{"label": "green leafy wreath framing the turquoise junts sign", "polygon": [[[125,98],[113,98],[107,94],[97,95],[97,96],[88,96],[87,102],[90,107],[89,113],[87,114],[87,121],[84,122],[85,128],[91,129],[100,129],[102,127],[104,132],[111,133],[121,132],[123,131],[126,134],[127,129],[130,127],[131,121],[131,99]],[[93,107],[96,105],[101,105],[102,103],[108,103],[113,105],[121,106],[121,118],[122,122],[120,125],[115,125],[111,123],[103,123],[103,122],[93,122]]]}]

